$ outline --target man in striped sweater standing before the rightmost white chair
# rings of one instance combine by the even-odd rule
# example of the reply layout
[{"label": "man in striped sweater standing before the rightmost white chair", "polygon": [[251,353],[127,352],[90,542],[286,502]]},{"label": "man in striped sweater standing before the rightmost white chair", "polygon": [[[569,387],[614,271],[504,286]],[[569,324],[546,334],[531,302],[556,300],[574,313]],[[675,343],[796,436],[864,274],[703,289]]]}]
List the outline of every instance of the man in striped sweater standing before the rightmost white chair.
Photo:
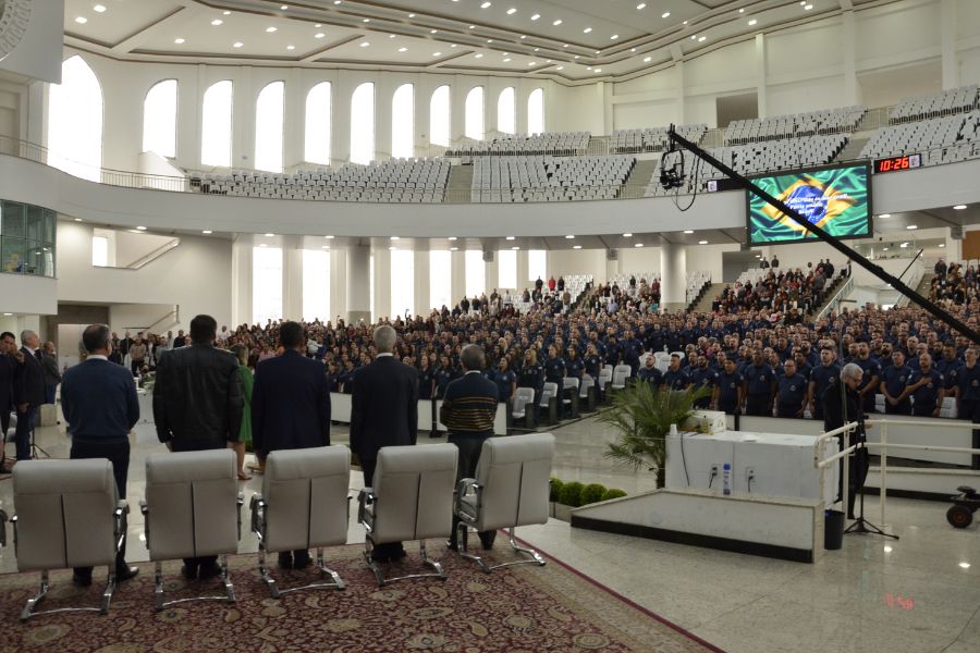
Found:
[{"label": "man in striped sweater standing before the rightmost white chair", "polygon": [[[485,379],[485,355],[479,345],[466,345],[460,353],[460,360],[466,373],[445,389],[439,421],[449,430],[449,442],[460,449],[460,463],[456,466],[456,482],[476,476],[476,466],[480,459],[483,442],[493,436],[493,418],[497,416],[498,389],[493,381]],[[453,515],[453,534],[448,545],[456,551],[456,526],[460,520]],[[497,531],[480,533],[480,543],[485,550],[493,546]]]}]

